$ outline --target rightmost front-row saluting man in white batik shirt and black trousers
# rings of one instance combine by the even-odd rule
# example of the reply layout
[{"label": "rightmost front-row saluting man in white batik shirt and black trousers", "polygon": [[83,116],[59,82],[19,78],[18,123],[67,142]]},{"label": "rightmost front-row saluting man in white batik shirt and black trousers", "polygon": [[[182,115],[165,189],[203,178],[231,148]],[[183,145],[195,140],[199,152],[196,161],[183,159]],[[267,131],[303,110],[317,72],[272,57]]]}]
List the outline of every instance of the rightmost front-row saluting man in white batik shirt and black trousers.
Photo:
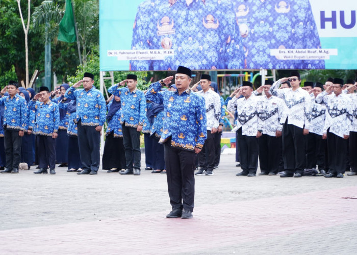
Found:
[{"label": "rightmost front-row saluting man in white batik shirt and black trousers", "polygon": [[[323,138],[327,138],[328,172],[327,178],[343,178],[347,164],[347,143],[351,129],[351,121],[348,118],[351,113],[352,102],[347,94],[342,93],[343,80],[334,79],[334,85],[330,85],[324,92],[316,97],[316,102],[325,103],[326,114],[323,127]],[[334,92],[334,93],[333,93]]]}]

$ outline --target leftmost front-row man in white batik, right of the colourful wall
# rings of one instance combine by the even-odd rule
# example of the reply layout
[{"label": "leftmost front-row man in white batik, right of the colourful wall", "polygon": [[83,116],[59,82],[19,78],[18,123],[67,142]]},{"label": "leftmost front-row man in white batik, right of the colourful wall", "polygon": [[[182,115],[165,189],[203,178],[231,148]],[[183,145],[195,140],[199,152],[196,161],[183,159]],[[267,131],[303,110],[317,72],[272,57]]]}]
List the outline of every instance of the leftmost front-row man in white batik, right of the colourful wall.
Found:
[{"label": "leftmost front-row man in white batik, right of the colourful wall", "polygon": [[[235,91],[236,92],[236,91]],[[242,172],[237,176],[256,176],[258,168],[258,139],[262,130],[258,128],[260,120],[257,114],[258,97],[252,95],[253,85],[243,82],[237,89],[237,94],[228,102],[228,111],[233,111],[237,106],[237,140]],[[241,95],[244,97],[239,98]],[[238,99],[239,98],[239,99]]]}]

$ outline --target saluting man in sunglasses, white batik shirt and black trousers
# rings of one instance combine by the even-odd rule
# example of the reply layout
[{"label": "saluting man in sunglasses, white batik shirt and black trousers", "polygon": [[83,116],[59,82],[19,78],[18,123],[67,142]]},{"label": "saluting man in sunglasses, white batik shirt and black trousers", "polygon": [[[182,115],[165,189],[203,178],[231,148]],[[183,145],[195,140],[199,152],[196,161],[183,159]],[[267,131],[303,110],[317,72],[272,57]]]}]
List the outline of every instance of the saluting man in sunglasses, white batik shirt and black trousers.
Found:
[{"label": "saluting man in sunglasses, white batik shirt and black trousers", "polygon": [[[291,72],[290,78],[276,81],[269,93],[282,98],[288,107],[288,117],[283,127],[283,159],[285,172],[280,177],[301,177],[305,168],[305,137],[309,134],[311,97],[300,88],[300,74]],[[291,88],[278,89],[289,81]]]}]

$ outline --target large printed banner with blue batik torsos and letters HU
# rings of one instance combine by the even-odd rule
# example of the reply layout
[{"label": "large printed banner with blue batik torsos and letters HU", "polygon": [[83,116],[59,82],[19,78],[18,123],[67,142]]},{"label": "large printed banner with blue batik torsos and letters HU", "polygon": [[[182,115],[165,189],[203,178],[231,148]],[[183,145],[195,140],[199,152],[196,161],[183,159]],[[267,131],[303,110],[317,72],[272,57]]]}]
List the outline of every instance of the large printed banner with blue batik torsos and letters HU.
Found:
[{"label": "large printed banner with blue batik torsos and letters HU", "polygon": [[100,0],[100,70],[357,69],[355,0]]}]

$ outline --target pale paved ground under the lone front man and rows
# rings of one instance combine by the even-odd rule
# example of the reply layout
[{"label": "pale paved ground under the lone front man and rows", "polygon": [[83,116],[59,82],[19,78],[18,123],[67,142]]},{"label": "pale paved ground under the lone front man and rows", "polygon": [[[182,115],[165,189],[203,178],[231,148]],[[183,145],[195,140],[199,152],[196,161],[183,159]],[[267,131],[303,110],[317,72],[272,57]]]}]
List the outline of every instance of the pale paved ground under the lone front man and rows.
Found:
[{"label": "pale paved ground under the lone front man and rows", "polygon": [[196,176],[187,220],[165,218],[165,174],[1,174],[0,254],[355,254],[357,176],[237,177],[233,158]]}]

